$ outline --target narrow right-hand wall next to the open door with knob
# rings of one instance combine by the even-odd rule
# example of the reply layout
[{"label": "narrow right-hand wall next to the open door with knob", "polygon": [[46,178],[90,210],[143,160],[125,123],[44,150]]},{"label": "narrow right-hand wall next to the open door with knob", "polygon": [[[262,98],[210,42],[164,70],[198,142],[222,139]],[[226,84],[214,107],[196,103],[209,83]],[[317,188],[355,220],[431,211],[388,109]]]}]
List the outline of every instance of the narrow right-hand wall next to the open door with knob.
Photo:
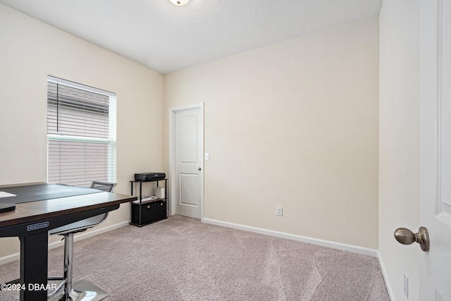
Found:
[{"label": "narrow right-hand wall next to the open door with knob", "polygon": [[384,0],[380,15],[379,253],[393,300],[419,300],[417,247],[396,228],[419,223],[419,1]]}]

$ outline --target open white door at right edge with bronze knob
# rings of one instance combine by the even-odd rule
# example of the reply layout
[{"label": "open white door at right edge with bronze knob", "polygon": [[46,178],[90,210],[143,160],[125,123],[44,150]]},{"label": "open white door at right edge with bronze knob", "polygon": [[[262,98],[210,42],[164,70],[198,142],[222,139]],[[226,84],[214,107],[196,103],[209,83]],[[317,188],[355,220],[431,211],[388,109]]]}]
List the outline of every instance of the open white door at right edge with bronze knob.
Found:
[{"label": "open white door at right edge with bronze knob", "polygon": [[[421,1],[420,300],[451,300],[451,1]],[[413,230],[413,229],[412,229]]]}]

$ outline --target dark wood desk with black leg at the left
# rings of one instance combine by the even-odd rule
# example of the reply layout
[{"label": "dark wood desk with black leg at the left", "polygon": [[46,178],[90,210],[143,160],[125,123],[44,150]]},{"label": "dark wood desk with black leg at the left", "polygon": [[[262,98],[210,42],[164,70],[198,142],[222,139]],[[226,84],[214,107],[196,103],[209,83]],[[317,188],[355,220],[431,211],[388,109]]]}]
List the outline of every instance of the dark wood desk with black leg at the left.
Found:
[{"label": "dark wood desk with black leg at the left", "polygon": [[[3,186],[5,187],[5,186]],[[0,187],[0,191],[2,187]],[[6,198],[8,199],[8,198]],[[0,213],[0,237],[20,239],[20,300],[47,300],[48,231],[119,208],[137,197],[98,192],[16,204]]]}]

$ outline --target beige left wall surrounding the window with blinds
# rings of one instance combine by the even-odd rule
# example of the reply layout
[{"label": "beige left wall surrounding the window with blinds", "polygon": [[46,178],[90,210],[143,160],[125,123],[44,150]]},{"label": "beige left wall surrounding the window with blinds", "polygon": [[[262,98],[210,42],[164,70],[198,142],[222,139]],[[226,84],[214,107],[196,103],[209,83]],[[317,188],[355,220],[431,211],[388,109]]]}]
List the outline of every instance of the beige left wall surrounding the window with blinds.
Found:
[{"label": "beige left wall surrounding the window with blinds", "polygon": [[[0,185],[47,180],[47,75],[116,92],[116,192],[130,194],[136,172],[162,171],[163,75],[2,4],[0,39]],[[128,219],[123,204],[99,227]],[[0,244],[0,257],[18,252],[17,238]]]}]

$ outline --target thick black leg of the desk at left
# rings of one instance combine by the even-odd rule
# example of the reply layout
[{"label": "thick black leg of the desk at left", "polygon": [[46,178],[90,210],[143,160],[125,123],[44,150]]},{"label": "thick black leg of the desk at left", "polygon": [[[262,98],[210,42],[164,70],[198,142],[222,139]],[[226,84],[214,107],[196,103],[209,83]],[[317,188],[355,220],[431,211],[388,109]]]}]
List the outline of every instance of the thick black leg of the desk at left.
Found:
[{"label": "thick black leg of the desk at left", "polygon": [[20,301],[47,300],[48,240],[47,231],[20,237]]}]

